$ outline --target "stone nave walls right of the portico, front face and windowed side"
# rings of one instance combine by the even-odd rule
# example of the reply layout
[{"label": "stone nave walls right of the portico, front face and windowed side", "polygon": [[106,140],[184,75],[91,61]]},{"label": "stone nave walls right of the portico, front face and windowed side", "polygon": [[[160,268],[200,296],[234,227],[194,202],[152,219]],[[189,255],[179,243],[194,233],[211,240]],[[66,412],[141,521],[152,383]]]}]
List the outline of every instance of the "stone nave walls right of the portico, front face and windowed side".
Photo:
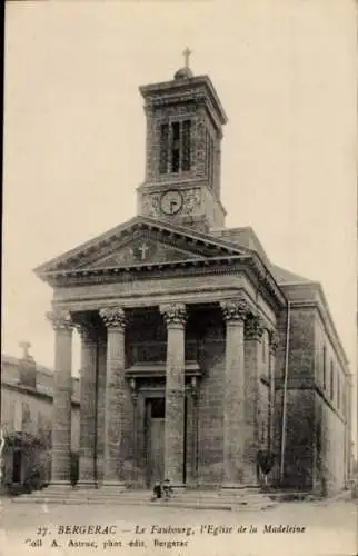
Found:
[{"label": "stone nave walls right of the portico, front face and windowed side", "polygon": [[[287,315],[279,319],[275,453],[279,477]],[[341,490],[347,477],[347,388],[344,368],[315,308],[291,307],[285,485],[317,494]]]}]

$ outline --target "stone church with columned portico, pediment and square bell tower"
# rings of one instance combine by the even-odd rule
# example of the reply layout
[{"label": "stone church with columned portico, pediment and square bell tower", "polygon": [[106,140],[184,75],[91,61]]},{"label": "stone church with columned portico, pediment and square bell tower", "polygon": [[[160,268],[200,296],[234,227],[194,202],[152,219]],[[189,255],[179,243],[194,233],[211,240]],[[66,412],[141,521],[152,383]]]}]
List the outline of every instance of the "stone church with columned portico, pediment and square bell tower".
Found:
[{"label": "stone church with columned portico, pediment and square bell tower", "polygon": [[53,484],[69,480],[76,324],[80,484],[257,486],[262,450],[272,484],[341,489],[351,385],[320,285],[272,265],[252,229],[225,228],[227,117],[209,77],[185,67],[140,92],[138,216],[37,269],[53,288],[61,380]]}]

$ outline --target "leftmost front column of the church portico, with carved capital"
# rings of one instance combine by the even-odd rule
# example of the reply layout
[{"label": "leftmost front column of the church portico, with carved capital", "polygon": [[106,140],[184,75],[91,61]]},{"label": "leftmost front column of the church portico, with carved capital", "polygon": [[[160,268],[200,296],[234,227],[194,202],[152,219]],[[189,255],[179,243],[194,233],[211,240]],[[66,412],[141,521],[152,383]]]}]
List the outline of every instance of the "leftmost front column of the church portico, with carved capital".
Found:
[{"label": "leftmost front column of the church portico, with carved capital", "polygon": [[70,486],[73,322],[68,311],[47,316],[54,329],[51,485]]}]

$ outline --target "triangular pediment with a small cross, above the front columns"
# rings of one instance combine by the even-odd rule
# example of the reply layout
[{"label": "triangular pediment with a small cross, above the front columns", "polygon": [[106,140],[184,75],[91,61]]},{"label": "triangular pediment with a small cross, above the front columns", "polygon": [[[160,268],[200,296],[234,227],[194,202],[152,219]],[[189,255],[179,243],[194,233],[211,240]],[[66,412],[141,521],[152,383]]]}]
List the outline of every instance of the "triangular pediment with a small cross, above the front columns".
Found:
[{"label": "triangular pediment with a small cross, above the front columns", "polygon": [[42,265],[36,272],[77,272],[247,255],[249,250],[196,230],[136,217],[107,234]]}]

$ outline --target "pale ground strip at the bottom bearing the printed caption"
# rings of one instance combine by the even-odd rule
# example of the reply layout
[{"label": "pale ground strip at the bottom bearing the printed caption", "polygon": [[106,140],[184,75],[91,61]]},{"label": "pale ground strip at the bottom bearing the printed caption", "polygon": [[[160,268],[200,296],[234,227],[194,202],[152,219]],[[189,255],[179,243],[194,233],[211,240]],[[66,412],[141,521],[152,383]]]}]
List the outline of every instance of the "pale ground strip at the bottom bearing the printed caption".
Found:
[{"label": "pale ground strip at the bottom bearing the printed caption", "polygon": [[[13,504],[4,499],[1,503],[0,556],[51,556],[52,553],[53,556],[356,556],[357,509],[356,504],[346,500],[282,503],[258,513],[155,505]],[[93,530],[61,533],[63,527],[73,528],[74,525],[98,526],[98,530],[97,534]],[[265,526],[269,525],[306,529],[265,533]],[[168,526],[181,529],[170,534],[163,530]],[[255,528],[257,530],[250,533]],[[82,543],[93,543],[93,546]]]}]

